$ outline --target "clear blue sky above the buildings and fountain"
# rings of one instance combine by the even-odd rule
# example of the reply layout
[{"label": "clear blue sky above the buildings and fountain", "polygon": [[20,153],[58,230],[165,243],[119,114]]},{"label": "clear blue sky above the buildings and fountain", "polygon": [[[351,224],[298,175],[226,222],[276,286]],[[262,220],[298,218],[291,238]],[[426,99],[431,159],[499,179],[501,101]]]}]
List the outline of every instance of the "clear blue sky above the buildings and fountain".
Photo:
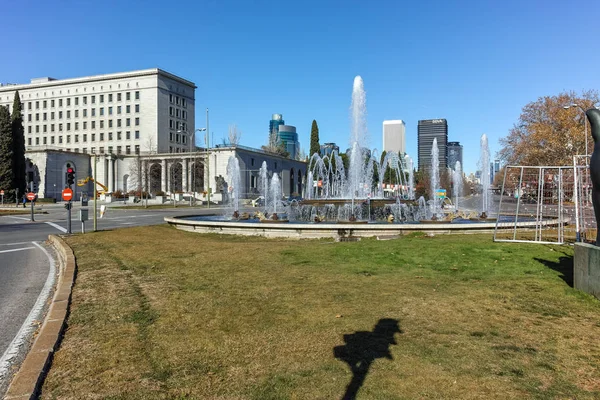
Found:
[{"label": "clear blue sky above the buildings and fountain", "polygon": [[384,119],[446,118],[475,171],[479,139],[498,139],[522,107],[564,90],[598,89],[600,2],[589,1],[20,1],[2,6],[0,82],[162,68],[196,83],[196,125],[220,142],[266,143],[271,114],[308,150],[346,148],[352,82],[367,92],[370,147]]}]

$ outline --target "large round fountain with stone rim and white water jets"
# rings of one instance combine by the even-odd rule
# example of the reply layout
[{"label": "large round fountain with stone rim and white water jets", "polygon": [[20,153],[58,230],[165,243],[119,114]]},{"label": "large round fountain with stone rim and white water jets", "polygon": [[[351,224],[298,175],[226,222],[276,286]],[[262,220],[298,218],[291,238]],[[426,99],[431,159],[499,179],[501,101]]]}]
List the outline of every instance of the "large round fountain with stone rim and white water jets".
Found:
[{"label": "large round fountain with stone rim and white water jets", "polygon": [[[434,141],[431,155],[432,199],[415,199],[413,160],[389,152],[380,157],[377,150],[367,146],[366,95],[362,79],[354,80],[351,105],[351,139],[348,164],[337,152],[321,157],[313,154],[308,162],[304,199],[284,203],[281,177],[269,176],[266,162],[259,170],[258,191],[264,196],[262,212],[240,215],[240,170],[237,159],[231,158],[227,167],[227,180],[231,191],[229,210],[234,221],[215,216],[165,218],[181,229],[194,232],[220,232],[270,237],[336,237],[374,236],[398,234],[403,231],[468,231],[492,230],[496,224],[478,218],[476,222],[459,223],[456,214],[444,216],[436,189],[439,179],[439,149]],[[487,137],[482,137],[482,180],[484,183],[483,211],[489,211],[489,149]],[[487,171],[487,173],[486,173]],[[455,199],[458,209],[462,176],[460,164],[455,172]],[[459,178],[460,176],[460,178]],[[487,181],[487,184],[486,184]],[[313,185],[316,182],[316,185]],[[474,216],[474,215],[473,215]],[[270,222],[268,227],[258,224]],[[244,221],[247,219],[247,221]],[[437,221],[432,220],[437,219]],[[285,224],[283,222],[289,222]],[[523,223],[531,223],[523,221]],[[552,223],[552,222],[548,222]],[[512,227],[513,225],[511,225]]]}]

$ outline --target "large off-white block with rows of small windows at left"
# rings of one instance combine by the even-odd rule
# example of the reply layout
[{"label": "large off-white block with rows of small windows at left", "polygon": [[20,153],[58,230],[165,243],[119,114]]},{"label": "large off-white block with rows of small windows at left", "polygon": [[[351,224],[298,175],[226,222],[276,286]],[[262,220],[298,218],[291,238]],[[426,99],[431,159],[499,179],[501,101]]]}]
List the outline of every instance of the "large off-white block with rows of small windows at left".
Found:
[{"label": "large off-white block with rows of small windows at left", "polygon": [[12,111],[19,91],[27,151],[181,153],[192,149],[195,89],[153,68],[1,86],[0,106]]}]

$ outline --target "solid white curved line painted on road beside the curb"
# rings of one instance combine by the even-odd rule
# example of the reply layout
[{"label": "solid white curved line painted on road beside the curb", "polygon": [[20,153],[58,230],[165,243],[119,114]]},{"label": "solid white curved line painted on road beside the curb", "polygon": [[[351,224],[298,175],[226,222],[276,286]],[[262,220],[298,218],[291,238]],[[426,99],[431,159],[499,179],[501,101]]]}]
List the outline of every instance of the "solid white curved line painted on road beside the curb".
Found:
[{"label": "solid white curved line painted on road beside the curb", "polygon": [[23,322],[23,325],[21,325],[19,332],[17,332],[15,338],[12,340],[12,342],[10,342],[2,357],[0,357],[0,380],[8,376],[13,359],[18,355],[19,349],[25,344],[29,335],[35,330],[36,325],[34,325],[34,321],[41,314],[44,304],[46,304],[46,301],[50,296],[50,292],[52,291],[52,287],[54,286],[54,281],[56,279],[56,267],[54,265],[54,259],[50,253],[48,253],[48,251],[40,246],[37,242],[31,243],[42,250],[44,254],[46,254],[46,257],[48,257],[48,262],[50,264],[48,278],[46,278],[46,283],[40,291],[40,295],[35,301],[35,304],[29,312],[29,315]]}]

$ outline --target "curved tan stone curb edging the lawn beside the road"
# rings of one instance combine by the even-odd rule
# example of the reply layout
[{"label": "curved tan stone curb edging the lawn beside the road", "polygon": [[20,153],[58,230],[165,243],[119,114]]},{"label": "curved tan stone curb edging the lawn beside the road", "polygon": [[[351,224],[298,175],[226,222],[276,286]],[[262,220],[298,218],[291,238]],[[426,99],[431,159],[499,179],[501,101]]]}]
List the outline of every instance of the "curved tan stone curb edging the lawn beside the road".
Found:
[{"label": "curved tan stone curb edging the lawn beside the road", "polygon": [[6,400],[37,398],[66,325],[71,289],[75,281],[75,255],[59,236],[49,235],[48,241],[59,255],[61,273],[46,319],[19,372],[8,387]]}]

